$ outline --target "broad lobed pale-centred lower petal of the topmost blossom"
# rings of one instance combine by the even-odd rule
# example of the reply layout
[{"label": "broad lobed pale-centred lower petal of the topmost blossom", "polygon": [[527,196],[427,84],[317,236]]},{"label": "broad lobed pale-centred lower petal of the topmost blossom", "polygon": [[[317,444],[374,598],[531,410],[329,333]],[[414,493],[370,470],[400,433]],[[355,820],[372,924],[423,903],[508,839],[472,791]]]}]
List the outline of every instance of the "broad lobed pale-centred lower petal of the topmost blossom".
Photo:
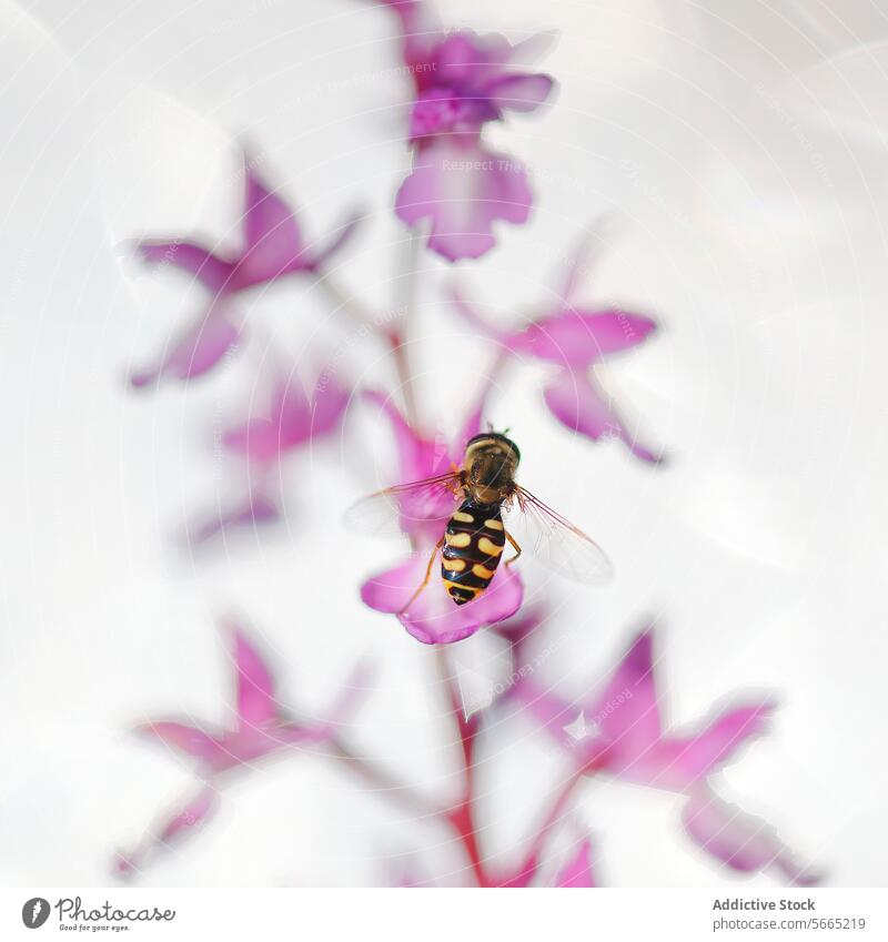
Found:
[{"label": "broad lobed pale-centred lower petal of the topmost blossom", "polygon": [[495,220],[527,221],[532,195],[524,166],[476,138],[435,139],[416,154],[395,211],[410,226],[428,221],[428,247],[451,262],[477,259],[495,243]]}]

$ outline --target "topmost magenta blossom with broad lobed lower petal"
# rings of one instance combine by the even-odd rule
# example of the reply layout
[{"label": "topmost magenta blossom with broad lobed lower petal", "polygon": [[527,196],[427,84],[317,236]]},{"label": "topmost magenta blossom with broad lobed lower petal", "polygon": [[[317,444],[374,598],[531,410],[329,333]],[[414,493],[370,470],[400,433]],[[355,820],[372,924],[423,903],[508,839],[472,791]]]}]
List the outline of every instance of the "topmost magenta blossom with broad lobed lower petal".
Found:
[{"label": "topmost magenta blossom with broad lobed lower petal", "polygon": [[527,221],[532,194],[524,165],[487,150],[482,130],[509,111],[531,112],[553,80],[521,61],[534,40],[513,45],[496,33],[444,32],[428,4],[383,0],[401,20],[415,100],[410,118],[413,173],[395,199],[411,227],[424,221],[428,247],[451,262],[493,247],[493,223]]}]

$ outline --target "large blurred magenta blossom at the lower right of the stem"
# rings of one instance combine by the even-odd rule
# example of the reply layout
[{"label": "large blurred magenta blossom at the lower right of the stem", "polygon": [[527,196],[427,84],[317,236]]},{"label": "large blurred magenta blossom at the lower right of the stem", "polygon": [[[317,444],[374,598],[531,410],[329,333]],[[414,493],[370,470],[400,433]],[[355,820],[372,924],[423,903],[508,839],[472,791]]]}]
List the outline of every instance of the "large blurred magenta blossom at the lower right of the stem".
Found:
[{"label": "large blurred magenta blossom at the lower right of the stem", "polygon": [[692,732],[664,726],[654,677],[653,630],[632,644],[602,689],[568,703],[523,678],[509,696],[571,750],[578,771],[609,773],[689,796],[685,827],[708,853],[735,870],[774,867],[793,883],[816,881],[796,864],[763,822],[740,816],[709,791],[708,781],[766,728],[773,705],[763,700],[727,709]]}]

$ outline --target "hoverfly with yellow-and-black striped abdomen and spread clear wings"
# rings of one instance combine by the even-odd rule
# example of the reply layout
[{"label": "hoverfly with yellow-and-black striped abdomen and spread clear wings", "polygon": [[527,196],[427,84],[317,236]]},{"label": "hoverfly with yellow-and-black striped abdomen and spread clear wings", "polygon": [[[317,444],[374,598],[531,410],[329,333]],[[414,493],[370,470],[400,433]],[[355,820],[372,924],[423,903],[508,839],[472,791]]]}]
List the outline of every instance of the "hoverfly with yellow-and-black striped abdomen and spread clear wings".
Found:
[{"label": "hoverfly with yellow-and-black striped abdomen and spread clear wings", "polygon": [[515,480],[519,460],[511,438],[485,432],[468,439],[461,467],[379,490],[346,513],[351,525],[361,529],[370,525],[377,533],[408,531],[411,524],[436,523],[443,528],[425,578],[400,614],[428,585],[438,551],[441,578],[451,599],[456,605],[476,599],[493,580],[506,543],[515,551],[506,567],[521,556],[514,530],[526,535],[526,548],[562,576],[584,583],[609,576],[610,564],[598,545]]}]

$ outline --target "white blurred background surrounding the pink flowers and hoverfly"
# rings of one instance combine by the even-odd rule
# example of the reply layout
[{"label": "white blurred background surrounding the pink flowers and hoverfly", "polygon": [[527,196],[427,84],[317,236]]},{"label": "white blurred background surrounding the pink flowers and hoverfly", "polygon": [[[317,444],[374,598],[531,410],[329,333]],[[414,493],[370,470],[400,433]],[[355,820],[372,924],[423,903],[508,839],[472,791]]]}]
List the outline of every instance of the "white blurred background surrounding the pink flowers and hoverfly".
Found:
[{"label": "white blurred background surrounding the pink flowers and hoverfly", "polygon": [[[605,373],[646,440],[665,446],[663,468],[556,427],[534,368],[515,371],[493,404],[522,446],[523,480],[617,569],[597,590],[525,569],[563,606],[547,679],[582,690],[659,615],[673,721],[737,691],[779,697],[774,735],[720,792],[774,822],[829,882],[884,883],[888,8],[438,9],[448,24],[514,39],[561,32],[542,63],[561,82],[554,105],[493,135],[531,164],[532,223],[502,229],[461,276],[517,318],[544,295],[561,247],[609,212],[613,244],[587,296],[663,325]],[[287,463],[283,527],[194,556],[176,544],[191,515],[240,493],[214,429],[249,405],[269,343],[300,364],[339,352],[342,375],[391,385],[382,350],[290,281],[246,303],[253,331],[224,372],[141,395],[125,385],[202,302],[185,278],[133,266],[120,243],[232,230],[244,138],[310,234],[354,204],[370,214],[339,274],[374,303],[395,296],[404,232],[391,204],[408,165],[408,91],[393,18],[360,0],[0,0],[0,879],[110,881],[114,848],[189,781],[183,762],[127,730],[224,718],[223,612],[249,618],[284,699],[310,711],[370,652],[379,689],[350,737],[446,789],[454,756],[431,651],[357,599],[398,546],[339,523],[391,474],[367,413]],[[464,388],[453,364],[471,372],[485,351],[441,303],[451,273],[423,264],[414,362],[426,414],[451,428]],[[467,642],[466,657],[486,644]],[[529,727],[485,747],[487,853],[514,853],[526,833],[533,780],[551,787],[543,754],[553,758]],[[686,839],[679,808],[670,794],[589,783],[577,814],[601,880],[735,880]],[[213,824],[143,882],[376,884],[414,851],[446,872],[455,851],[403,819],[297,757],[234,783]]]}]

